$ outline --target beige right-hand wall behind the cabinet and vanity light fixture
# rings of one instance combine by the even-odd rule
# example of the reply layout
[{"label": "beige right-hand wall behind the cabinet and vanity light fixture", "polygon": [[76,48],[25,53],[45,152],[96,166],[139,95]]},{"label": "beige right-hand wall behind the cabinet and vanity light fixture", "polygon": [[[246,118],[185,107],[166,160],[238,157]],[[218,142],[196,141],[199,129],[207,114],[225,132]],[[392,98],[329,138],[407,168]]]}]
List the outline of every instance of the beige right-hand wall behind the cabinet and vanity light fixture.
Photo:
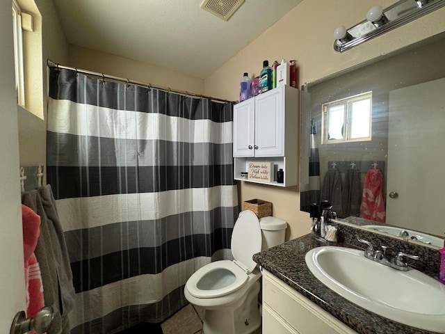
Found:
[{"label": "beige right-hand wall behind the cabinet and vanity light fixture", "polygon": [[[378,0],[372,4],[385,8],[394,2]],[[334,29],[339,25],[348,27],[361,22],[370,7],[369,1],[302,1],[208,77],[204,81],[205,95],[238,100],[238,85],[243,72],[258,75],[265,59],[269,63],[282,57],[287,60],[296,59],[300,66],[302,84],[445,31],[445,8],[442,8],[342,54],[334,51]],[[300,212],[300,193],[297,186],[277,189],[273,186],[241,182],[240,200],[252,198],[273,202],[273,215],[290,225],[288,238],[293,239],[309,232],[309,215]]]}]

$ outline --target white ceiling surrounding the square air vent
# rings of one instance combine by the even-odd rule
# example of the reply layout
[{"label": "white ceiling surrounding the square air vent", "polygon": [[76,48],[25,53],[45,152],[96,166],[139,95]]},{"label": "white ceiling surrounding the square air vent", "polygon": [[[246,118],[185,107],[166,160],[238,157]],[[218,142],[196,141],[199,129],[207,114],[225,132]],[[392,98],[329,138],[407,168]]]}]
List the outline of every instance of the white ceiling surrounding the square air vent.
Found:
[{"label": "white ceiling surrounding the square air vent", "polygon": [[202,0],[54,0],[72,45],[205,79],[302,0],[245,0],[224,21]]}]

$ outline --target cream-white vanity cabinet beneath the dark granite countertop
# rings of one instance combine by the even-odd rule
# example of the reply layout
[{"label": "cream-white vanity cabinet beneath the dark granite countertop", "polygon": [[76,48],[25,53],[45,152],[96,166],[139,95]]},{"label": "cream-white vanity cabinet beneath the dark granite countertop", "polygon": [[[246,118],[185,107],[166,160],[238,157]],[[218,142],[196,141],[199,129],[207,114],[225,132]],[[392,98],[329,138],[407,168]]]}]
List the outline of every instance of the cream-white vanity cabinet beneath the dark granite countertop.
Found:
[{"label": "cream-white vanity cabinet beneath the dark granite countertop", "polygon": [[268,271],[262,278],[263,334],[357,334]]}]

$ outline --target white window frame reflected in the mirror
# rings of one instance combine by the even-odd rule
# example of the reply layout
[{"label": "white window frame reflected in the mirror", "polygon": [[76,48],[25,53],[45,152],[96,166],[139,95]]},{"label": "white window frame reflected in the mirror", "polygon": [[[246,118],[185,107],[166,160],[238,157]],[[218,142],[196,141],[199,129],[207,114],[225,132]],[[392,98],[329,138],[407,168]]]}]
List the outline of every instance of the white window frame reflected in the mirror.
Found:
[{"label": "white window frame reflected in the mirror", "polygon": [[[351,124],[352,124],[352,106],[354,102],[359,102],[369,99],[369,136],[360,138],[350,138],[351,136]],[[344,123],[345,129],[343,129],[343,138],[341,139],[329,139],[328,138],[328,113],[332,107],[344,105],[343,119],[346,120]],[[322,144],[336,144],[336,143],[357,143],[361,141],[371,141],[372,140],[372,119],[373,119],[373,98],[372,90],[365,93],[360,93],[350,97],[344,97],[343,99],[335,100],[332,102],[323,103],[321,105],[321,143]]]}]

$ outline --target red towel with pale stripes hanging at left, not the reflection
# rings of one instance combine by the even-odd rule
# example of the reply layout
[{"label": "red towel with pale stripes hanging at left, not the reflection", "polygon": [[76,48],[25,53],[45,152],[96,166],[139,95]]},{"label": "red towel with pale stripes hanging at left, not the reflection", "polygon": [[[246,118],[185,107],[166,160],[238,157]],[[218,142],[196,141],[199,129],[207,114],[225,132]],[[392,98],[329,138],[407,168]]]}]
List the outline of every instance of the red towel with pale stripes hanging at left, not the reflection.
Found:
[{"label": "red towel with pale stripes hanging at left, not the reflection", "polygon": [[44,307],[42,276],[34,250],[40,234],[40,216],[22,205],[23,250],[26,283],[26,317],[34,317]]}]

